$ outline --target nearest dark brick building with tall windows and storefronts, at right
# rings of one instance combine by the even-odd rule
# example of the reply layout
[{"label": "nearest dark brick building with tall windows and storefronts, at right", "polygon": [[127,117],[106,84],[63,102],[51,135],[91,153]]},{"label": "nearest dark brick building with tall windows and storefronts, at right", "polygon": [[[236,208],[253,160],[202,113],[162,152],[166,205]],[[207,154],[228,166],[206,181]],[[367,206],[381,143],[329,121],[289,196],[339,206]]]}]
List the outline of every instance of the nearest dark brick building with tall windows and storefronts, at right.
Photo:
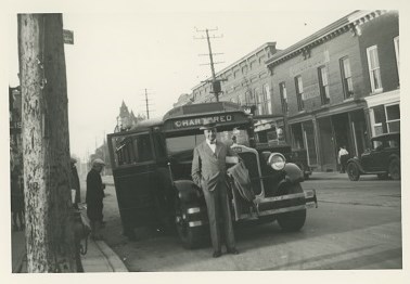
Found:
[{"label": "nearest dark brick building with tall windows and storefronts, at right", "polygon": [[339,146],[360,155],[372,135],[399,129],[396,53],[398,14],[355,11],[266,62],[273,112],[310,165],[336,170]]}]

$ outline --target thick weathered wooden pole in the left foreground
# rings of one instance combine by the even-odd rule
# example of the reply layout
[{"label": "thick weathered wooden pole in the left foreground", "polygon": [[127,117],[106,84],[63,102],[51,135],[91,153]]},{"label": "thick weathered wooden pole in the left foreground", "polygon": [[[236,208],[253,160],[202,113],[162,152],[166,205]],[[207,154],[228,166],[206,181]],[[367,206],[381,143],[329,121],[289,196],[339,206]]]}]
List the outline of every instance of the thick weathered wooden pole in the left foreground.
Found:
[{"label": "thick weathered wooden pole in the left foreground", "polygon": [[62,14],[18,15],[28,272],[75,272]]}]

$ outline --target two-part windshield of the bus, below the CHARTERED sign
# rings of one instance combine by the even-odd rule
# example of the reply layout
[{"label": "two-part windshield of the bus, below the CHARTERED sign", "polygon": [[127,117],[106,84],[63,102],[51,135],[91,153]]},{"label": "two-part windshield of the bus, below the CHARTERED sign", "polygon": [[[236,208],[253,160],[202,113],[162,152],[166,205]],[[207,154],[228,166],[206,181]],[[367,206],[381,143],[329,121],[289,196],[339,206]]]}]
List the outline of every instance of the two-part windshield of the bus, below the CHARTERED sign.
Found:
[{"label": "two-part windshield of the bus, below the CHARTERED sign", "polygon": [[[193,151],[194,147],[204,140],[204,134],[167,138],[167,152],[169,155],[175,155],[181,152]],[[228,146],[231,146],[234,143],[234,140],[236,141],[236,144],[249,146],[247,131],[243,129],[240,130],[234,128],[233,130],[218,132],[217,140]]]}]

